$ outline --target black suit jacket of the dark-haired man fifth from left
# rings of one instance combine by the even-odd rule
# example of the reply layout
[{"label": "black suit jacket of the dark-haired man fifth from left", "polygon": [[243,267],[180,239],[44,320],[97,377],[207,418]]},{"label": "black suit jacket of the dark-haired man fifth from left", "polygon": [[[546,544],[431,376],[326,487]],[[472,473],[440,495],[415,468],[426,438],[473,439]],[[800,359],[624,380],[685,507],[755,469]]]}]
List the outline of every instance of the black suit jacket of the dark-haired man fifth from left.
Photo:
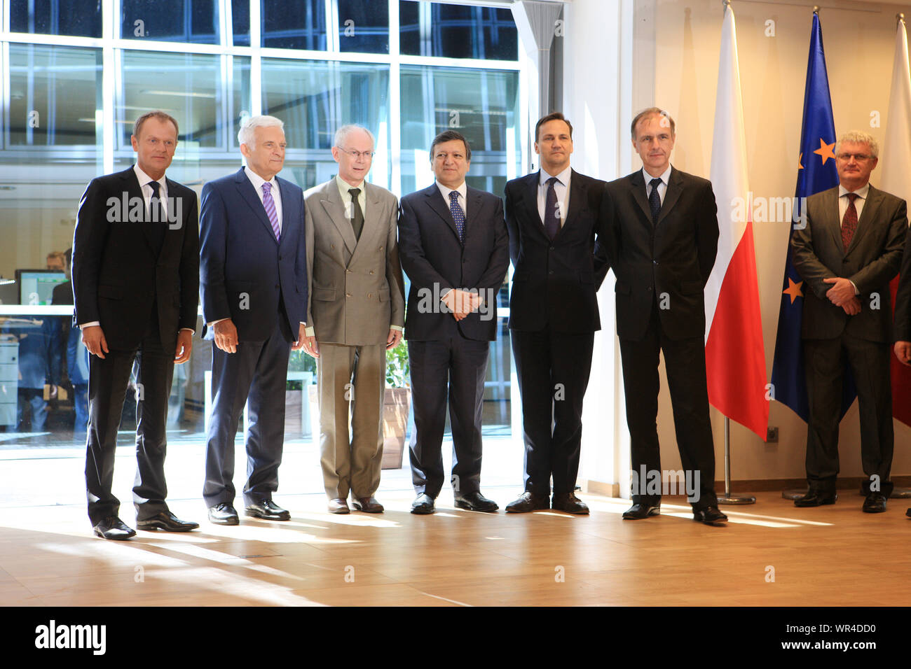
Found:
[{"label": "black suit jacket of the dark-haired man fifth from left", "polygon": [[[537,213],[539,172],[506,188],[513,285],[509,327],[558,332],[601,329],[597,291],[609,263],[602,248],[604,182],[572,171],[569,211],[553,241]],[[597,241],[596,241],[597,236]]]}]

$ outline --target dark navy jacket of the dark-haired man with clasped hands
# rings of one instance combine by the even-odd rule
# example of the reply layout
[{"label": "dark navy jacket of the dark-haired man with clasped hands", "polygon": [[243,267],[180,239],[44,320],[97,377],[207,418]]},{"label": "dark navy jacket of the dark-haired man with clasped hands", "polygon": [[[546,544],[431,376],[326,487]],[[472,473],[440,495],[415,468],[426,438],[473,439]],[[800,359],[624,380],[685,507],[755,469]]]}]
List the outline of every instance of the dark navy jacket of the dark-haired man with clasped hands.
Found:
[{"label": "dark navy jacket of the dark-haired man with clasped hands", "polygon": [[[503,200],[468,187],[465,225],[463,247],[449,205],[435,183],[402,198],[399,256],[411,279],[405,339],[444,340],[456,333],[469,340],[496,339],[496,295],[509,268]],[[480,309],[460,321],[441,311],[438,296],[448,289],[479,290],[486,301],[485,319]]]}]

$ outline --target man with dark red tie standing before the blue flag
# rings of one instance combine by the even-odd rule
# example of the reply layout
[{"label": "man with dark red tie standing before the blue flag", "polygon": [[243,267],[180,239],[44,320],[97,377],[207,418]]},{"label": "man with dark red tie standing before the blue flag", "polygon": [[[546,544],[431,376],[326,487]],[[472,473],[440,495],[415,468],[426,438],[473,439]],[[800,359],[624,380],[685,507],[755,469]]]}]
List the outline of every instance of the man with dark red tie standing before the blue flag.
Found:
[{"label": "man with dark red tie standing before the blue flag", "polygon": [[878,153],[875,139],[864,132],[840,137],[835,145],[839,185],[806,199],[806,226],[791,238],[794,267],[804,279],[801,338],[810,407],[809,490],[794,500],[796,506],[833,504],[838,497],[845,360],[860,405],[861,461],[868,477],[863,511],[885,512],[893,488],[889,281],[902,260],[908,221],[905,200],[870,186]]}]

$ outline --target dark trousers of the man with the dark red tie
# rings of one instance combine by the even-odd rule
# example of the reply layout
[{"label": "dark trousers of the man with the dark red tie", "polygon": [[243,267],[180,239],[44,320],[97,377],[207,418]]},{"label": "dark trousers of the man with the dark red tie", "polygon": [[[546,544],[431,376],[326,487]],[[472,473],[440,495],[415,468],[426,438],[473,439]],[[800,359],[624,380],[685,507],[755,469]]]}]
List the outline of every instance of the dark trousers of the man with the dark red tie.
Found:
[{"label": "dark trousers of the man with the dark red tie", "polygon": [[[889,471],[895,434],[892,388],[885,342],[862,340],[846,332],[831,340],[804,340],[804,370],[810,405],[806,435],[806,478],[811,488],[835,492],[838,474],[838,417],[842,407],[845,360],[857,387],[860,407],[860,452],[867,477],[879,477],[879,492],[892,492]],[[864,481],[870,492],[871,481]]]}]

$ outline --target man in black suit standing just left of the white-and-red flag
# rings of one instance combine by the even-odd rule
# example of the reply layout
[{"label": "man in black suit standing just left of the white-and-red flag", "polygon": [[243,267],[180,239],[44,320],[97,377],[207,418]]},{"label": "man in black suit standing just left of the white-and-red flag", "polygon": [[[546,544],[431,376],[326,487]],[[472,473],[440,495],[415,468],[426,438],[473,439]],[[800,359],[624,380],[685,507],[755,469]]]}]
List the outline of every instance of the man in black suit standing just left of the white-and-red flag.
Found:
[{"label": "man in black suit standing just left of the white-and-red flag", "polygon": [[694,520],[725,522],[715,495],[702,293],[718,251],[715,196],[710,181],[670,166],[670,116],[651,107],[633,118],[630,131],[642,169],[608,184],[606,208],[634,473],[632,506],[623,518],[660,513],[660,491],[646,488],[646,481],[660,481],[656,420],[663,350],[681,461],[693,488],[698,481],[689,500]]}]

